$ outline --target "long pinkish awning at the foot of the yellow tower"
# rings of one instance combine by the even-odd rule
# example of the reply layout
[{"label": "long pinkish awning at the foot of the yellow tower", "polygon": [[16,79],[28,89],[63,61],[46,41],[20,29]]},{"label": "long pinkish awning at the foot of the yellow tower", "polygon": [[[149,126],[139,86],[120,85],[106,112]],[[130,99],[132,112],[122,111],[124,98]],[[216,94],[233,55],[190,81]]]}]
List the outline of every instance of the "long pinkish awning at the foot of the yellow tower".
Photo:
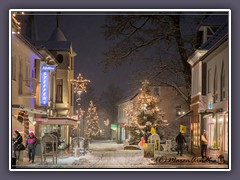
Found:
[{"label": "long pinkish awning at the foot of the yellow tower", "polygon": [[54,124],[54,125],[77,125],[77,121],[71,118],[34,118],[34,121],[41,122],[41,124]]}]

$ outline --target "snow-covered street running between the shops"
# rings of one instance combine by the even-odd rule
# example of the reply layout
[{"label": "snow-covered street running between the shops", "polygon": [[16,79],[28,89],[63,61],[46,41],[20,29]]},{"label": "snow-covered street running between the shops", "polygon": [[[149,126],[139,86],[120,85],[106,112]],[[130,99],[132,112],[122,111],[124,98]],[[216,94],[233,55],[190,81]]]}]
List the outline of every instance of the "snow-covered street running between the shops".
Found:
[{"label": "snow-covered street running between the shops", "polygon": [[[191,159],[191,155],[184,154],[182,157],[176,153],[161,152],[160,156],[176,157],[178,159]],[[26,158],[18,162],[17,168],[227,168],[228,165],[217,163],[195,162],[183,163],[156,163],[151,158],[144,158],[141,150],[124,150],[123,144],[116,144],[110,141],[95,141],[89,146],[89,152],[80,157],[59,156],[58,164],[53,165],[51,158],[41,164],[38,157],[36,163],[29,163]]]}]

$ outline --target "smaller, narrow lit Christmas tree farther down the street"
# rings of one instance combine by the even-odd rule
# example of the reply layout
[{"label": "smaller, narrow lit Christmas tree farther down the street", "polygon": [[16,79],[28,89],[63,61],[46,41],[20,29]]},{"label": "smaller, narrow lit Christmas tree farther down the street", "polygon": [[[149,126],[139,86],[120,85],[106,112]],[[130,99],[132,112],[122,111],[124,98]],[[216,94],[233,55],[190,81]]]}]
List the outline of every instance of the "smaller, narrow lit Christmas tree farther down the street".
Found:
[{"label": "smaller, narrow lit Christmas tree farther down the street", "polygon": [[99,117],[96,111],[96,106],[90,101],[90,105],[86,115],[87,126],[85,129],[85,137],[91,138],[98,134],[99,132]]}]

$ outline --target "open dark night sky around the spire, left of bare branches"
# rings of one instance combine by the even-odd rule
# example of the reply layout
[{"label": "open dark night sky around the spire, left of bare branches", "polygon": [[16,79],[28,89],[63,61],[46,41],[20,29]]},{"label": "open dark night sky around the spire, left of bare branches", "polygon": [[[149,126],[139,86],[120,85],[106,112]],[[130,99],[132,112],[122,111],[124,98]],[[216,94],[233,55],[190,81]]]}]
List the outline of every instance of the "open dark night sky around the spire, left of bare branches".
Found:
[{"label": "open dark night sky around the spire, left of bare branches", "polygon": [[[104,73],[104,67],[99,63],[103,52],[110,45],[104,39],[104,15],[59,15],[59,26],[67,40],[72,41],[75,57],[75,77],[81,73],[91,80],[97,95],[113,83],[126,91],[130,88],[129,76],[135,69],[143,67],[143,62],[123,64]],[[36,29],[39,40],[47,40],[56,27],[56,15],[36,15]]]}]

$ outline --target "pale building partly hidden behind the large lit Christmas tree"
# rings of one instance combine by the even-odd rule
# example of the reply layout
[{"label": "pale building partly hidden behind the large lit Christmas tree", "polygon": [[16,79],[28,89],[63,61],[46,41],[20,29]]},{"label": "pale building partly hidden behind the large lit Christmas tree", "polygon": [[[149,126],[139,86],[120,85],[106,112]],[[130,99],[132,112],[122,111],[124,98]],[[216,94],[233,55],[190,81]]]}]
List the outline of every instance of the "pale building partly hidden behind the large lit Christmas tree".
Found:
[{"label": "pale building partly hidden behind the large lit Christmas tree", "polygon": [[[184,88],[181,87],[184,91]],[[169,127],[164,130],[164,137],[172,139],[180,131],[180,125],[187,127],[186,136],[190,135],[189,120],[178,120],[178,117],[189,111],[189,106],[184,98],[173,88],[167,85],[150,87],[151,95],[158,99],[158,108],[163,115],[164,120],[167,120]],[[136,106],[138,92],[134,95],[125,98],[118,104],[118,141],[124,142],[129,138],[128,125],[129,117],[126,109],[131,109]]]}]

